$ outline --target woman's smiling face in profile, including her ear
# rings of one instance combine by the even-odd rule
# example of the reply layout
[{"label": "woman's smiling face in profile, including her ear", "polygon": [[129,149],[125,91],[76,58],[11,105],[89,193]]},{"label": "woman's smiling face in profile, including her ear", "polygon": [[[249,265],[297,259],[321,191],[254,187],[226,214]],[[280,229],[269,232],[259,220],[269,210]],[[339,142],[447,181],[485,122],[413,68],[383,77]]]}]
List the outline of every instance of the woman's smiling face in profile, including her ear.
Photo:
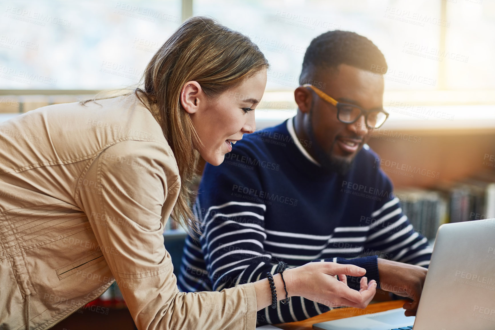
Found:
[{"label": "woman's smiling face in profile, including her ear", "polygon": [[180,100],[202,142],[198,152],[206,162],[215,166],[222,164],[225,154],[232,151],[243,134],[254,132],[253,110],[265,86],[266,69],[214,99],[206,97],[196,81],[184,85]]}]

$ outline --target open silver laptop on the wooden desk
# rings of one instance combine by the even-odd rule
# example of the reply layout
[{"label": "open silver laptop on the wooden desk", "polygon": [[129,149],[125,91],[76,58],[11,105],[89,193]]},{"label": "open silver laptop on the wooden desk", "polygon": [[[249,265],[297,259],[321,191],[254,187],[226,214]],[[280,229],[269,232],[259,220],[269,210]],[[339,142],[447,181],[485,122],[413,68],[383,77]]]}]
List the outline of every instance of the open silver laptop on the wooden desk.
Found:
[{"label": "open silver laptop on the wooden desk", "polygon": [[317,323],[313,329],[495,329],[495,219],[440,226],[416,317],[398,308]]}]

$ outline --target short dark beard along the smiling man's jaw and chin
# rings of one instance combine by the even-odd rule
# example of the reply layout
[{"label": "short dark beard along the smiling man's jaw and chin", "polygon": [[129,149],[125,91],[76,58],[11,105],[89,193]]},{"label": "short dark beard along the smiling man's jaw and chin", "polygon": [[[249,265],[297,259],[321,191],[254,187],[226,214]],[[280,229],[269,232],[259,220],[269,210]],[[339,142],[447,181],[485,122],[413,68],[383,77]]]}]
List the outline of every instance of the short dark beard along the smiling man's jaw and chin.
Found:
[{"label": "short dark beard along the smiling man's jaw and chin", "polygon": [[[314,155],[316,156],[316,160],[320,163],[321,167],[326,169],[329,172],[337,172],[339,175],[345,175],[349,171],[349,169],[352,167],[354,164],[354,158],[351,160],[347,159],[342,159],[341,157],[336,157],[329,155],[328,153],[325,152],[325,150],[319,145],[318,141],[316,140],[316,136],[314,134],[313,130],[313,107],[311,105],[311,110],[309,110],[309,120],[305,121],[305,126],[306,126],[306,132],[308,132],[309,139],[313,142],[312,143],[312,148],[314,148]],[[330,152],[334,149],[335,143],[337,141],[334,141],[331,148]]]}]

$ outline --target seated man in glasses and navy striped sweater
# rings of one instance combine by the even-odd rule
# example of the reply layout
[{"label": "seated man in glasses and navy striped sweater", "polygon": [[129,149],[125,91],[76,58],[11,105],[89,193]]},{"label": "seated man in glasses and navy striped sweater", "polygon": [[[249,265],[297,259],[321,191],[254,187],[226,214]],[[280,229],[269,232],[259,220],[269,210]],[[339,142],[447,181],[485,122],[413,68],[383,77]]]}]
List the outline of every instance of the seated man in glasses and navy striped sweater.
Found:
[{"label": "seated man in glasses and navy striped sweater", "polygon": [[[431,249],[366,144],[388,117],[377,66],[387,68],[385,57],[356,33],[312,40],[294,92],[297,115],[246,135],[222,165],[206,165],[194,206],[203,234],[186,239],[181,290],[256,281],[275,274],[279,261],[337,262],[363,267],[383,290],[411,298],[405,313],[415,314]],[[347,282],[359,289],[359,280]],[[259,311],[258,324],[328,310],[293,297]]]}]

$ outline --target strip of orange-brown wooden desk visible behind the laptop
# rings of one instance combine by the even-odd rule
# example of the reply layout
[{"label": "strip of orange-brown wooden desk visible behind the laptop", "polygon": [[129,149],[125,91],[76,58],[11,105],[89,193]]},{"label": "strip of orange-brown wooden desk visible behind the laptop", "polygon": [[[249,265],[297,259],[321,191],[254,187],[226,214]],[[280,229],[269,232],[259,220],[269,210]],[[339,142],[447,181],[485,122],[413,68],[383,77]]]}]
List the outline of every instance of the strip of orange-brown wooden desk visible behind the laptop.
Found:
[{"label": "strip of orange-brown wooden desk visible behind the laptop", "polygon": [[313,324],[315,323],[338,320],[363,314],[384,312],[388,311],[389,309],[402,307],[405,302],[405,300],[385,301],[376,304],[369,304],[368,307],[366,307],[365,309],[353,307],[336,308],[304,321],[281,323],[275,324],[274,326],[285,330],[312,330]]}]

